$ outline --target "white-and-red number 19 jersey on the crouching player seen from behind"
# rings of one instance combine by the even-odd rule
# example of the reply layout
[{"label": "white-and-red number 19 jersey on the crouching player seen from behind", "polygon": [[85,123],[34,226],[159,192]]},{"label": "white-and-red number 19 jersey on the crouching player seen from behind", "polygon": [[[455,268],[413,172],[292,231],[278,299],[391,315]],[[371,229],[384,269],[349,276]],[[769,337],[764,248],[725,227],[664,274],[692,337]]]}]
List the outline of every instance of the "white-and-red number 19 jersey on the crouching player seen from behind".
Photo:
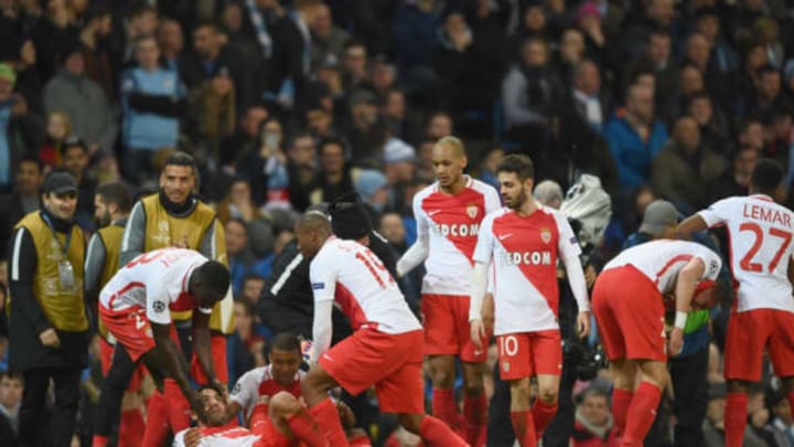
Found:
[{"label": "white-and-red number 19 jersey on the crouching player seen from behind", "polygon": [[354,330],[368,326],[396,334],[421,329],[391,274],[355,241],[331,236],[312,259],[309,277],[314,301],[334,300]]}]

